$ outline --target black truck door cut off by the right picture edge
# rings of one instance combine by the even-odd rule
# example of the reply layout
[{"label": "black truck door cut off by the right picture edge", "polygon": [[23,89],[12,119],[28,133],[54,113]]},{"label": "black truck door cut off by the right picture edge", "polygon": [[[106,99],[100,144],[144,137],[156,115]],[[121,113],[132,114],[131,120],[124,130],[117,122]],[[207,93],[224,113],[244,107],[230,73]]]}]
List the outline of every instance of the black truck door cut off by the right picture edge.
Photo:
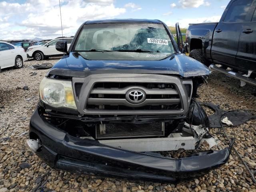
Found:
[{"label": "black truck door cut off by the right picture edge", "polygon": [[248,22],[242,25],[236,65],[238,68],[256,72],[256,0],[250,7],[247,19]]}]

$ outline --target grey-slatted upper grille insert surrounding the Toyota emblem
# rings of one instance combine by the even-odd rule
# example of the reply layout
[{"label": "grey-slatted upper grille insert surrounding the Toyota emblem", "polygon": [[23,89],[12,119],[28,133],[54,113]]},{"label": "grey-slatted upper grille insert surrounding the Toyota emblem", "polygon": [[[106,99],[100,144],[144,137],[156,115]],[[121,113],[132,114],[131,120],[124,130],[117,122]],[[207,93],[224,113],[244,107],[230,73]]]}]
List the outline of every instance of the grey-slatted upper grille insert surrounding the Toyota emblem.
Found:
[{"label": "grey-slatted upper grille insert surrounding the Toyota emblem", "polygon": [[[134,104],[126,99],[129,90],[146,93],[142,103]],[[94,84],[86,104],[86,110],[180,110],[181,98],[172,83],[100,82]]]}]

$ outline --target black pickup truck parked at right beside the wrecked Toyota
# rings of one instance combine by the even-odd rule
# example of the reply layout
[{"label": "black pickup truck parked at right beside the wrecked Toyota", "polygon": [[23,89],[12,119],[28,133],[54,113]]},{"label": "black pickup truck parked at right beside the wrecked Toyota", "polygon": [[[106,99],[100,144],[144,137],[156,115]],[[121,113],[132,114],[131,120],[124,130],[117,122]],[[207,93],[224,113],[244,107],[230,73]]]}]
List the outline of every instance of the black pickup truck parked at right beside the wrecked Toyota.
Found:
[{"label": "black pickup truck parked at right beside the wrecked Toyota", "polygon": [[241,85],[256,85],[256,0],[231,0],[220,22],[190,24],[185,50]]}]

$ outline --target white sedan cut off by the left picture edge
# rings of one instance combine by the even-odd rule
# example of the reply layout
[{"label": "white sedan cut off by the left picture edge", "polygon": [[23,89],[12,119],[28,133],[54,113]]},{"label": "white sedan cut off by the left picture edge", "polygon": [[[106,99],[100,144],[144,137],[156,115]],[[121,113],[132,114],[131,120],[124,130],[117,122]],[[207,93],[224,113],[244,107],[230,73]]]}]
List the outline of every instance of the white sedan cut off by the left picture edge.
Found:
[{"label": "white sedan cut off by the left picture edge", "polygon": [[0,70],[7,67],[22,68],[28,60],[25,50],[10,43],[0,41]]}]

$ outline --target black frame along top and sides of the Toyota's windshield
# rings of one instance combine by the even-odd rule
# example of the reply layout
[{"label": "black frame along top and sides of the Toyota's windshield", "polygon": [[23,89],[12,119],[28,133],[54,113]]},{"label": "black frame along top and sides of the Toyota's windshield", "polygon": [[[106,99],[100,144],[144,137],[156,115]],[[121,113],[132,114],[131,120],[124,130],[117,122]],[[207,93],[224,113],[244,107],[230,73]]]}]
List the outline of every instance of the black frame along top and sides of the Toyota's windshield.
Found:
[{"label": "black frame along top and sides of the Toyota's windshield", "polygon": [[[166,30],[168,36],[170,37],[170,40],[171,40],[171,42],[172,42],[172,46],[174,47],[174,53],[179,53],[178,46],[176,45],[176,42],[175,42],[174,39],[172,38],[172,35],[171,35],[171,33],[170,33],[169,28],[168,28],[167,25],[166,25],[164,22],[162,22],[161,20],[158,20],[158,21],[160,22],[160,24],[162,24],[162,25],[164,26],[164,29]],[[85,25],[100,24],[100,23],[89,23],[89,24],[87,24],[87,22],[91,22],[91,21],[86,21],[86,22],[84,22],[84,23],[78,28],[78,30],[77,30],[77,32],[76,32],[74,38],[73,38],[73,41],[72,41],[71,44],[70,44],[70,47],[69,47],[69,49],[68,49],[68,52],[76,52],[76,51],[75,51],[75,46],[76,46],[76,43],[77,43],[77,41],[78,41],[78,37],[80,36],[80,34],[81,34],[81,32],[82,32],[82,30],[83,30],[83,28],[84,28]],[[134,21],[134,22],[111,22],[111,21],[110,21],[110,22],[104,22],[104,23],[111,23],[111,24],[120,24],[120,23],[129,23],[129,24],[131,24],[131,23],[148,23],[148,24],[151,24],[151,22],[136,22],[136,21]]]}]

